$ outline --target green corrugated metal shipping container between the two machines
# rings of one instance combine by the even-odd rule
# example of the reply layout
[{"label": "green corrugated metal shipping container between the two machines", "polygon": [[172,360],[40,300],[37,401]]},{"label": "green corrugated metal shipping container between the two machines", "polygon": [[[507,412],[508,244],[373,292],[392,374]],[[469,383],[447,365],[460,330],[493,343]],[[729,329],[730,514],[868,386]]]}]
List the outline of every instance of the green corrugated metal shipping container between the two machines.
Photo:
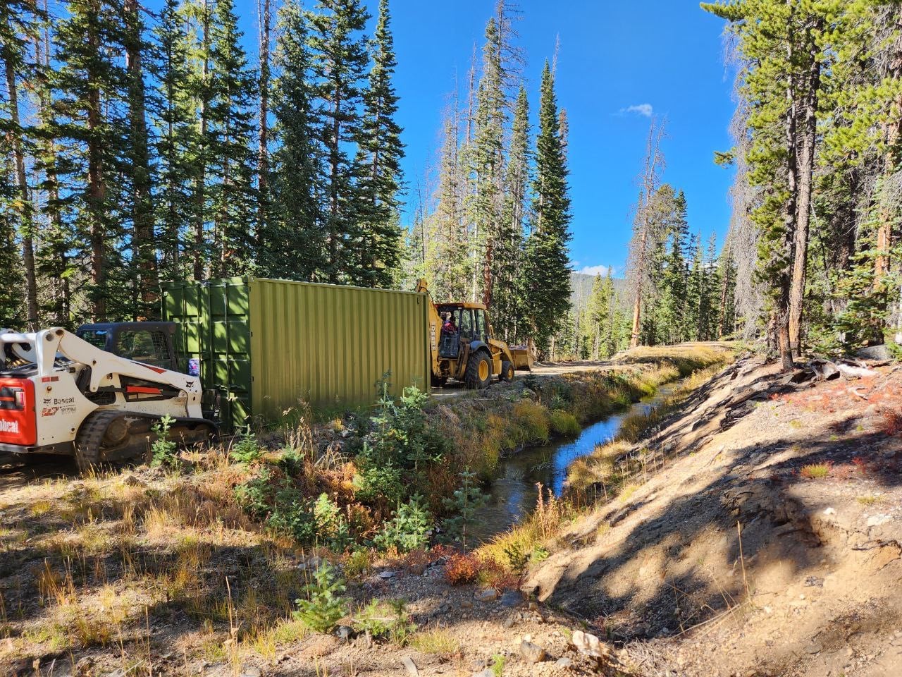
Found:
[{"label": "green corrugated metal shipping container between the two machines", "polygon": [[290,407],[369,404],[391,371],[391,393],[429,385],[427,297],[235,277],[162,285],[164,320],[235,430]]}]

